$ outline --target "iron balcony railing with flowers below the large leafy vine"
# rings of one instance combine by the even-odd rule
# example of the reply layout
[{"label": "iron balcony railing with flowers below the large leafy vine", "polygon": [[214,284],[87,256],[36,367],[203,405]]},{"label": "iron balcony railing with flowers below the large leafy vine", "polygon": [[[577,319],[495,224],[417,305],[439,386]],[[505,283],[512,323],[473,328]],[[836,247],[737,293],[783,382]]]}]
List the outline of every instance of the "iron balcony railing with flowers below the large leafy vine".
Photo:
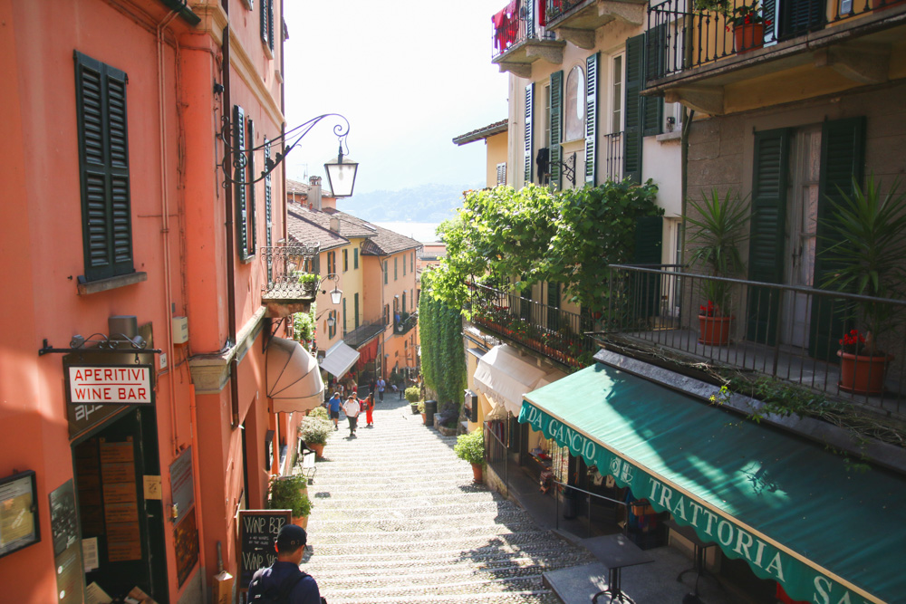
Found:
[{"label": "iron balcony railing with flowers below the large leafy vine", "polygon": [[574,312],[472,284],[472,322],[484,331],[516,341],[573,368],[589,364],[597,351],[591,336],[593,319]]}]

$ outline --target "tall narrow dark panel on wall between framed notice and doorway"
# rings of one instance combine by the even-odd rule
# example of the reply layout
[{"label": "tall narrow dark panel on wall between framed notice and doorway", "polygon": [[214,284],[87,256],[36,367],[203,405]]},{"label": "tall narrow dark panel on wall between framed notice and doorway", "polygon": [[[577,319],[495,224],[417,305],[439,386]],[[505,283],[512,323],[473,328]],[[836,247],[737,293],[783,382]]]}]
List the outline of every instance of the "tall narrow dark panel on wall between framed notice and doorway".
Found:
[{"label": "tall narrow dark panel on wall between framed notice and doorway", "polygon": [[82,602],[82,542],[75,515],[75,488],[72,478],[50,495],[53,566],[60,604]]}]

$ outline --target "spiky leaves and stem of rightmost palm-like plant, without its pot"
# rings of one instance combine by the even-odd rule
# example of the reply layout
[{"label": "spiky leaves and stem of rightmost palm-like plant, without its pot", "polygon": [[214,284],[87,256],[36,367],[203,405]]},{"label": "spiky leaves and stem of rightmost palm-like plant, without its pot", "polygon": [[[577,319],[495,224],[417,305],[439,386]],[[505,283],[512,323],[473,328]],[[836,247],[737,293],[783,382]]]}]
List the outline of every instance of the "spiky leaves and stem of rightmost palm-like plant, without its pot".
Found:
[{"label": "spiky leaves and stem of rightmost palm-like plant, without its pot", "polygon": [[[840,191],[829,199],[832,213],[822,221],[824,239],[831,244],[822,259],[833,266],[824,288],[873,298],[901,299],[906,294],[906,193],[894,179],[886,194],[882,182],[868,178],[865,188],[853,177],[853,194]],[[899,321],[892,304],[860,301],[843,306],[844,319],[863,321],[865,353],[882,356],[875,337]]]}]

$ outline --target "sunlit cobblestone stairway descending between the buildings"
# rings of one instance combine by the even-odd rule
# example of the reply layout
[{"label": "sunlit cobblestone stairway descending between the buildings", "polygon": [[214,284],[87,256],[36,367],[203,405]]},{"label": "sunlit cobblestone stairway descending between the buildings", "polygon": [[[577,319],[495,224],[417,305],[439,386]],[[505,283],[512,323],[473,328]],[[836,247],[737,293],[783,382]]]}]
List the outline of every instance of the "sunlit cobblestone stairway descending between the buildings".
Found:
[{"label": "sunlit cobblestone stairway descending between the buildings", "polygon": [[[375,427],[333,433],[309,496],[302,568],[330,604],[559,602],[541,574],[592,561],[483,484],[390,395]],[[361,416],[364,423],[364,415]]]}]

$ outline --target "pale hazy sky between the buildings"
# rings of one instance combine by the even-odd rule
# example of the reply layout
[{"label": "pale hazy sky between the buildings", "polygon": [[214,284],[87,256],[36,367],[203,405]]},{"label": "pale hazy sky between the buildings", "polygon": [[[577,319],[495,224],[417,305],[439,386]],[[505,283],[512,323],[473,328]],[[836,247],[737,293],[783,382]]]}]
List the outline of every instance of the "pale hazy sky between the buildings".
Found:
[{"label": "pale hazy sky between the buildings", "polygon": [[[506,118],[506,74],[491,63],[491,15],[506,0],[287,0],[286,120],[350,121],[355,192],[484,184],[485,145],[453,137]],[[323,120],[287,157],[290,178],[336,157]],[[325,178],[326,186],[326,178]]]}]

